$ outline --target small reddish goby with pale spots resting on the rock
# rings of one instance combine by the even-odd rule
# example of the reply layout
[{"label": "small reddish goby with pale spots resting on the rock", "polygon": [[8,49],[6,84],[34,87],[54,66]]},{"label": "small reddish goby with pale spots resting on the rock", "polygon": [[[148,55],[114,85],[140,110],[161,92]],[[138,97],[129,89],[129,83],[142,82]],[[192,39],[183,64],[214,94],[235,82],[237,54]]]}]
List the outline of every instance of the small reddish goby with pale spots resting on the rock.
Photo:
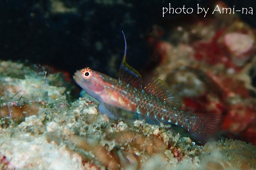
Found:
[{"label": "small reddish goby with pale spots resting on the rock", "polygon": [[201,144],[218,133],[220,115],[194,114],[178,109],[182,100],[162,80],[155,79],[142,88],[139,72],[126,62],[126,41],[119,79],[88,67],[76,71],[73,78],[100,102],[100,112],[110,118],[119,117],[121,109],[137,114],[138,118],[151,124],[175,124],[186,129]]}]

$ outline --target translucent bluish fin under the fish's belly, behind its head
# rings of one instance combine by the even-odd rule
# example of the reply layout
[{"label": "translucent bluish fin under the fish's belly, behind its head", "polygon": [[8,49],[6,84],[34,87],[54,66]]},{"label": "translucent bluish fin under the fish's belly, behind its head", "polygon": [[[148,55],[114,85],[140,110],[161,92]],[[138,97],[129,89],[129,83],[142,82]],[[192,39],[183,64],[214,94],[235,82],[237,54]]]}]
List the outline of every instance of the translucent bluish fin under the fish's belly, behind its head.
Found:
[{"label": "translucent bluish fin under the fish's belly, behind its head", "polygon": [[136,119],[137,115],[124,109],[109,105],[107,103],[100,103],[99,110],[102,114],[106,114],[110,119]]}]

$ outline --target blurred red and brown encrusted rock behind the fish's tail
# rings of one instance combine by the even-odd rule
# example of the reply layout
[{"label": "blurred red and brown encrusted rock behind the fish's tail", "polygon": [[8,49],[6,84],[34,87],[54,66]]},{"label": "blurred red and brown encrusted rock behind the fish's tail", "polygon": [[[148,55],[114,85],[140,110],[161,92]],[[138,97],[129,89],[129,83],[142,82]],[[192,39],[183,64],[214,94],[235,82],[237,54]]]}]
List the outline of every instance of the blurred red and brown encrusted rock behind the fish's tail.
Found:
[{"label": "blurred red and brown encrusted rock behind the fish's tail", "polygon": [[161,38],[167,28],[154,26],[148,40],[158,62],[151,58],[143,76],[166,81],[188,112],[222,115],[223,138],[256,145],[256,88],[250,77],[256,70],[255,30],[235,15],[210,20],[178,25],[175,35],[166,33],[167,39],[177,39],[175,46]]}]

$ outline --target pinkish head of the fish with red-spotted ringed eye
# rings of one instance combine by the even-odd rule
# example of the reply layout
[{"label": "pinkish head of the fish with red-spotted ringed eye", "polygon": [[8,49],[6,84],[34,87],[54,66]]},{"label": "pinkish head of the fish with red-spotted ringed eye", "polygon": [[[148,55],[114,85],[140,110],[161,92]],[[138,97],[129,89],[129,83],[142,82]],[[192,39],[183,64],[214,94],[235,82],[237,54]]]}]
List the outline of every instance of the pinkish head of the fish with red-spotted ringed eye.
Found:
[{"label": "pinkish head of the fish with red-spotted ringed eye", "polygon": [[100,101],[100,93],[105,89],[104,76],[106,75],[86,67],[76,71],[73,79],[85,92]]}]

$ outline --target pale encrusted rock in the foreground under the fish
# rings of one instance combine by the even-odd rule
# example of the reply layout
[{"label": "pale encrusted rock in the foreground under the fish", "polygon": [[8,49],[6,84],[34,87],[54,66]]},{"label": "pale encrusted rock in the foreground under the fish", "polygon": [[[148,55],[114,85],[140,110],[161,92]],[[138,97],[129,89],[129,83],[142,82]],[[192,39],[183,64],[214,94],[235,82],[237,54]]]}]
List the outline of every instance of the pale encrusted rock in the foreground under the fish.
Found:
[{"label": "pale encrusted rock in the foreground under the fish", "polygon": [[[8,74],[8,79],[14,80],[10,88],[16,89],[22,82],[23,86],[19,87],[24,92],[37,89],[32,95],[19,96],[17,93],[12,97],[12,93],[12,98],[8,97],[9,91],[4,90],[4,103],[21,100],[28,105],[33,102],[40,104],[36,105],[35,115],[25,114],[25,119],[19,122],[2,115],[1,169],[256,168],[256,146],[233,140],[199,146],[190,138],[172,131],[168,125],[151,125],[141,120],[113,121],[100,114],[98,105],[89,98],[68,102],[64,86],[48,84],[51,79],[58,79],[59,74],[50,74],[46,81],[21,63],[1,61],[0,70],[3,65],[23,73],[18,78],[11,72]],[[20,65],[20,70],[17,65]],[[2,72],[1,79],[5,80],[8,75]],[[44,95],[36,96],[38,91]],[[12,110],[12,114],[17,113]],[[8,126],[4,126],[6,119],[10,120]]]}]

